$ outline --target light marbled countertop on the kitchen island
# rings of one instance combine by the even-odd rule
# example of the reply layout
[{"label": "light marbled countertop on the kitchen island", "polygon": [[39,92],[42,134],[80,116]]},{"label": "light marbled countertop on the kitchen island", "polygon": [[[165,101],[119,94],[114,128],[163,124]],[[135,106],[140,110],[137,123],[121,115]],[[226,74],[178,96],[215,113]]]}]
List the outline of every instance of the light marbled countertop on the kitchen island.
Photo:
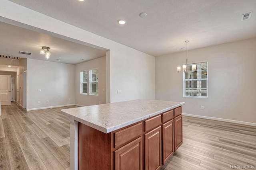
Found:
[{"label": "light marbled countertop on the kitchen island", "polygon": [[62,109],[61,113],[68,116],[70,120],[76,120],[104,133],[110,133],[183,104],[185,103],[140,99]]}]

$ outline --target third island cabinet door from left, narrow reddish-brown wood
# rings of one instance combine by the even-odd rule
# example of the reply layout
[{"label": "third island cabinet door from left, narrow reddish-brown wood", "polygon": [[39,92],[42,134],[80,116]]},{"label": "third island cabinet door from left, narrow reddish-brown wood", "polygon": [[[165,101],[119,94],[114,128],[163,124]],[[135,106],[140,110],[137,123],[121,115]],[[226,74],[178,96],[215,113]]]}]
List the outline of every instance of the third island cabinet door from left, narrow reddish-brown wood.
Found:
[{"label": "third island cabinet door from left, narrow reddish-brown wood", "polygon": [[163,164],[165,164],[174,153],[173,127],[173,119],[162,125]]}]

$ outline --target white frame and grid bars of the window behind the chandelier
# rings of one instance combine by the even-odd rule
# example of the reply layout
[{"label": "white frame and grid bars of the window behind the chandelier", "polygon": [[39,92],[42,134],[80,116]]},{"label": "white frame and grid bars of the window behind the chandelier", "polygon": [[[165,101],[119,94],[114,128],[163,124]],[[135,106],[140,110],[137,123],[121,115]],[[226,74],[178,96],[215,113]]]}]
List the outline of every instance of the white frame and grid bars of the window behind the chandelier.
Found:
[{"label": "white frame and grid bars of the window behind the chandelier", "polygon": [[[202,69],[201,69],[201,63],[206,63],[207,64],[207,78],[202,78]],[[197,78],[196,79],[193,79],[193,77],[191,79],[185,79],[186,78],[186,72],[183,72],[183,97],[186,97],[186,98],[208,98],[208,77],[209,77],[209,73],[208,73],[208,60],[206,61],[198,61],[198,62],[194,62],[194,63],[189,63],[188,66],[192,66],[193,64],[196,64],[196,70],[198,72],[198,75],[197,75]],[[189,70],[191,71],[191,70]],[[191,81],[192,83],[192,86],[193,86],[193,81],[202,81],[202,80],[206,80],[206,90],[202,90],[202,84],[200,84],[200,82],[198,82],[198,85],[197,87],[197,90],[196,90],[196,93],[199,94],[200,96],[186,96],[186,92],[189,92],[189,90],[187,89],[186,90],[186,82],[189,82]],[[193,90],[190,90],[190,95],[193,94]],[[201,96],[202,93],[205,93],[206,92],[206,96]]]}]

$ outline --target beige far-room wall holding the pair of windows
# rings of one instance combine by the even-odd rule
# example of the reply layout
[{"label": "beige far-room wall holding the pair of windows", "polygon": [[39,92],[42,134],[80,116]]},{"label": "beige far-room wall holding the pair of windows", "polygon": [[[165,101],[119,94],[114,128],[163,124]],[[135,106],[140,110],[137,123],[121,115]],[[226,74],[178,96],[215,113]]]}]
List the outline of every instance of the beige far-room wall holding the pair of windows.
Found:
[{"label": "beige far-room wall holding the pair of windows", "polygon": [[[80,94],[80,72],[98,68],[98,96]],[[75,66],[75,103],[90,106],[106,103],[106,56],[76,64]]]}]

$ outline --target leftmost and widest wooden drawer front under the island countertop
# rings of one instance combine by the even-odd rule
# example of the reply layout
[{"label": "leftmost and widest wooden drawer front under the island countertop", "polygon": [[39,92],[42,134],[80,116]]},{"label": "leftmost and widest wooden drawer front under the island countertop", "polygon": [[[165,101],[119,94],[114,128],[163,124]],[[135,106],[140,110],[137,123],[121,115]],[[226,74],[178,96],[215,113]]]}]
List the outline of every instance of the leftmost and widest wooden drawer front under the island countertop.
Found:
[{"label": "leftmost and widest wooden drawer front under the island countertop", "polygon": [[120,147],[121,145],[140,137],[143,132],[142,122],[121,131],[114,133],[114,147]]}]

